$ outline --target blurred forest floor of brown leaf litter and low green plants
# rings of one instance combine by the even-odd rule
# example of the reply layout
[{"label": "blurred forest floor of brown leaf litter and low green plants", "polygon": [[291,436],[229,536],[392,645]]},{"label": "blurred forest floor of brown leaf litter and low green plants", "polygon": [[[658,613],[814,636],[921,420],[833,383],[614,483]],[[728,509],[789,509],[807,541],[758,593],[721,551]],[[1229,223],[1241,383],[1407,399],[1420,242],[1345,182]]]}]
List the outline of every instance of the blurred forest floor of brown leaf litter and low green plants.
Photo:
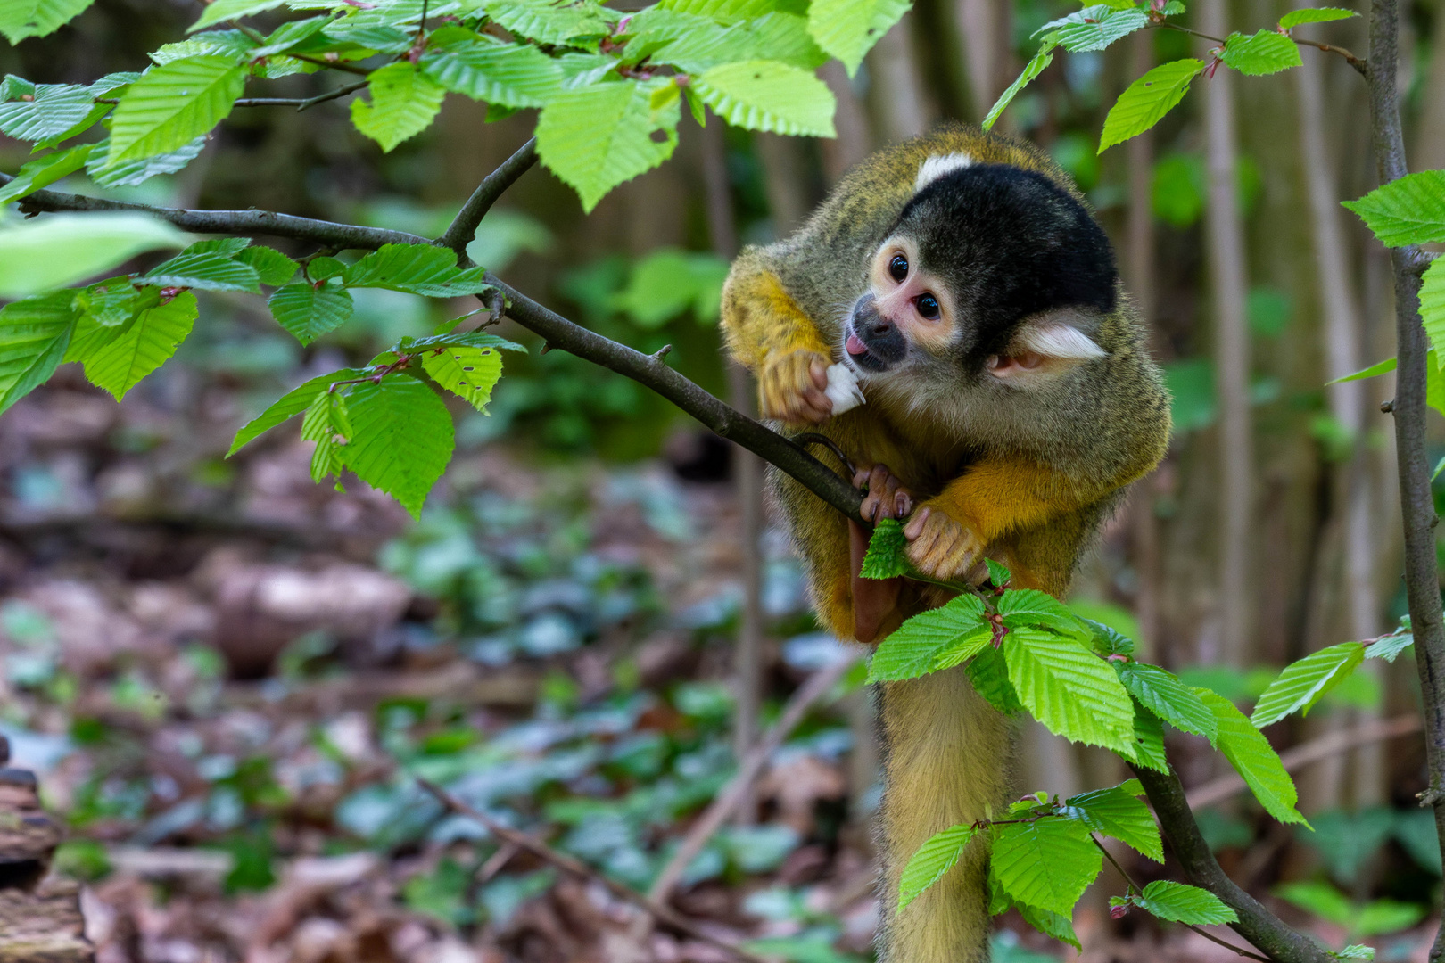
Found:
[{"label": "blurred forest floor of brown leaf litter and low green plants", "polygon": [[[84,882],[98,960],[728,960],[416,777],[646,889],[734,768],[730,487],[458,450],[412,526],[314,485],[295,426],[223,459],[234,394],[171,388],[117,407],[62,374],[0,420],[0,732],[68,822],[53,872]],[[851,658],[775,534],[767,556],[764,725]],[[696,933],[871,956],[868,732],[853,673],[773,757],[756,822],[688,866]],[[1066,959],[1238,959],[1087,905]],[[1006,924],[997,963],[1059,957]],[[1423,960],[1423,933],[1380,959]]]}]

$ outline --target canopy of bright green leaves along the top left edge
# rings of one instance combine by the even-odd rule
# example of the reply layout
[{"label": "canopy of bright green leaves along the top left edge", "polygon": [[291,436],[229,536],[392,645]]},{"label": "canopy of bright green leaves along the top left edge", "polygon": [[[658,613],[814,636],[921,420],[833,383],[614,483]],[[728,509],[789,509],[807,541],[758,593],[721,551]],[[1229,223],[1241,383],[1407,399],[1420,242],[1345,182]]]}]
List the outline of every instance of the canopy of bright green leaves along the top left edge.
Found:
[{"label": "canopy of bright green leaves along the top left edge", "polygon": [[[88,6],[0,7],[16,43]],[[240,23],[277,7],[321,14],[262,33]],[[426,130],[448,94],[488,105],[488,120],[540,108],[542,162],[588,211],[614,186],[666,160],[682,103],[704,123],[832,137],[834,97],[814,71],[829,56],[857,71],[909,0],[660,0],[623,14],[597,0],[217,0],[191,38],[152,53],[140,74],[94,84],[0,84],[0,131],[53,149],[0,191],[16,199],[84,169],[98,185],[139,183],[184,167],[251,79],[345,66],[366,74],[351,121],[383,150]],[[422,22],[422,12],[426,22]],[[228,26],[221,26],[228,25]],[[59,147],[105,124],[97,143]]]}]

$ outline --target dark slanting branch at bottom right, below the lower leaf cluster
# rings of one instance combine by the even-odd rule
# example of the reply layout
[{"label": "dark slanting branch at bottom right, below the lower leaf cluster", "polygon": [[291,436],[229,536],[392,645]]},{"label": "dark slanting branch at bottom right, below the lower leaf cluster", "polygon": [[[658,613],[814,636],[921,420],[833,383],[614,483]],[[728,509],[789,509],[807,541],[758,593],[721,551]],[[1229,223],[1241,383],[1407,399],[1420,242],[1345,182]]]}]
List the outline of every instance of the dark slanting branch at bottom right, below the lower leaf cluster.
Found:
[{"label": "dark slanting branch at bottom right, below the lower leaf cluster", "polygon": [[1244,892],[1225,875],[1214,859],[1214,853],[1209,852],[1209,845],[1204,842],[1199,824],[1194,822],[1194,813],[1189,810],[1183,787],[1179,785],[1179,777],[1175,775],[1173,770],[1165,774],[1142,765],[1130,765],[1129,768],[1144,785],[1149,801],[1155,807],[1155,816],[1159,817],[1185,875],[1194,885],[1202,886],[1222,899],[1240,917],[1238,923],[1230,924],[1231,930],[1264,950],[1272,960],[1287,960],[1289,963],[1334,962],[1334,957],[1322,946],[1287,927],[1259,899]]}]

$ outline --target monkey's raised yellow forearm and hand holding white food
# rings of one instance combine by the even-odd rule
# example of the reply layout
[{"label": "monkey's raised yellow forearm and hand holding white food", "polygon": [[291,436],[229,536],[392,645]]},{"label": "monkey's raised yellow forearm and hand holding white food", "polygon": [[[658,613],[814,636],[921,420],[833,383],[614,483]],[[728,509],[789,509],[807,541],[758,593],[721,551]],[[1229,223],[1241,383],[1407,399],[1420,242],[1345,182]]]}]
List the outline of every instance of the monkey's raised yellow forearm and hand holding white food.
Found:
[{"label": "monkey's raised yellow forearm and hand holding white food", "polygon": [[722,331],[733,357],[757,374],[764,417],[816,424],[832,413],[825,394],[832,348],[756,254],[740,257],[728,274]]}]

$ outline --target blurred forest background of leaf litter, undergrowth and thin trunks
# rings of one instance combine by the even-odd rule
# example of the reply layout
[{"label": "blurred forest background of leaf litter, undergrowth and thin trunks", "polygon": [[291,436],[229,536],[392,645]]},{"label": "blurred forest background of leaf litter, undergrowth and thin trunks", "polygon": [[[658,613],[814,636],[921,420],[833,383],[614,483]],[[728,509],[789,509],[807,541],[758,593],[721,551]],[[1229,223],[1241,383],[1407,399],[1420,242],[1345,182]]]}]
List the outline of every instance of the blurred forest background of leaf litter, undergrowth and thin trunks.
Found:
[{"label": "blurred forest background of leaf litter, undergrowth and thin trunks", "polygon": [[[786,235],[876,147],[977,123],[1030,33],[1072,9],[919,0],[855,78],[822,68],[837,140],[685,118],[676,156],[590,217],[543,169],[526,175],[474,260],[611,338],[670,344],[681,371],[747,398],[717,331],[737,247]],[[1285,9],[1196,0],[1189,22],[1253,32]],[[0,48],[0,72],[140,69],[198,10],[101,0],[51,38]],[[1303,33],[1363,53],[1364,32],[1355,19]],[[1445,3],[1410,4],[1405,40],[1410,167],[1445,167]],[[1340,58],[1306,49],[1302,69],[1272,78],[1221,71],[1156,130],[1095,154],[1131,79],[1205,46],[1142,30],[1107,56],[1061,56],[1001,127],[1088,193],[1175,396],[1169,458],[1105,528],[1071,603],[1247,705],[1285,663],[1405,612],[1379,413],[1392,378],[1327,387],[1393,355],[1392,290],[1384,250],[1337,204],[1374,186],[1364,87]],[[345,105],[243,110],[188,169],[114,196],[435,235],[533,126],[529,113],[487,123],[452,97],[381,156]],[[4,170],[25,156],[0,137]],[[490,417],[455,407],[457,458],[412,523],[360,482],[312,485],[296,424],[223,456],[282,390],[442,315],[357,290],[357,319],[302,349],[259,302],[202,297],[176,364],[123,404],[68,365],[0,419],[0,732],[66,823],[46,885],[84,886],[103,963],[620,959],[636,936],[626,907],[448,816],[410,777],[646,889],[727,784],[736,746],[829,667],[842,681],[672,898],[770,956],[871,956],[877,758],[861,664],[844,674],[857,654],[816,631],[782,533],[759,520],[756,463],[509,323],[532,351],[507,355]],[[1308,720],[1267,731],[1314,833],[1215,781],[1228,770],[1202,742],[1170,754],[1241,885],[1331,946],[1423,960],[1441,863],[1415,806],[1418,683],[1409,660],[1370,663]],[[1042,729],[1020,739],[1020,793],[1121,778],[1107,752]],[[1165,872],[1120,859],[1140,879]],[[1110,920],[1111,872],[1095,889],[1075,921],[1082,954],[1004,917],[996,959],[1235,959],[1182,928]],[[666,963],[728,959],[668,930],[640,946]]]}]

